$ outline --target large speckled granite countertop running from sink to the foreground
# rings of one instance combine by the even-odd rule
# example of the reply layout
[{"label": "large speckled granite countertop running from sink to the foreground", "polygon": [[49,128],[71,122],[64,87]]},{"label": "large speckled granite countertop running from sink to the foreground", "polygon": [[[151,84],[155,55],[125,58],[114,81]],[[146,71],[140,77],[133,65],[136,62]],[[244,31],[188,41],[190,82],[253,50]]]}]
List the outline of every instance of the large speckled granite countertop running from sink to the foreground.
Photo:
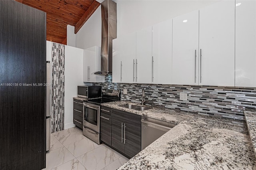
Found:
[{"label": "large speckled granite countertop running from sink to the foreground", "polygon": [[136,154],[119,170],[256,169],[256,157],[245,122],[171,109],[136,111],[120,107],[126,103],[131,102],[102,105],[178,125]]}]

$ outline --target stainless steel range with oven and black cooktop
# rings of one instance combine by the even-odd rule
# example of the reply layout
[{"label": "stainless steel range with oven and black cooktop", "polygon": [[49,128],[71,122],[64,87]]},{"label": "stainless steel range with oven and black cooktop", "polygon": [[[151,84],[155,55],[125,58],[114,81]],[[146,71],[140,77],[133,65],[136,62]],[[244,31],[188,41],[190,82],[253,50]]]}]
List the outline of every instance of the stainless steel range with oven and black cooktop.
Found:
[{"label": "stainless steel range with oven and black cooktop", "polygon": [[102,91],[102,98],[88,99],[83,107],[83,134],[100,144],[100,104],[120,100],[120,90]]}]

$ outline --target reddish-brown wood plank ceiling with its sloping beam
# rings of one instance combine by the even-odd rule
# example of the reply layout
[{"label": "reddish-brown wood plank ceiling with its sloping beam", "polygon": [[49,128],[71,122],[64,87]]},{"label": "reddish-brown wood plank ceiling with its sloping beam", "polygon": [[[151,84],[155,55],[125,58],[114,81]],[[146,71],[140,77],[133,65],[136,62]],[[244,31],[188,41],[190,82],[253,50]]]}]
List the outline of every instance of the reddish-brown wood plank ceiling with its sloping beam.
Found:
[{"label": "reddish-brown wood plank ceiling with its sloping beam", "polygon": [[75,33],[100,6],[96,0],[16,0],[46,12],[46,40],[66,45],[67,25]]}]

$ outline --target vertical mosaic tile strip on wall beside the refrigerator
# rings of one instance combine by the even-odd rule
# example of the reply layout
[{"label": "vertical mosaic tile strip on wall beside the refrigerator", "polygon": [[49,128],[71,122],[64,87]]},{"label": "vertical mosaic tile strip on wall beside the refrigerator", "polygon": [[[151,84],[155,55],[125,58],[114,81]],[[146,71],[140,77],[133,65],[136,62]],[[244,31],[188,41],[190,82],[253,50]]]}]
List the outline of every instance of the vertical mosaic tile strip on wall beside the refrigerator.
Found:
[{"label": "vertical mosaic tile strip on wall beside the refrigerator", "polygon": [[52,43],[51,132],[64,129],[64,47]]}]

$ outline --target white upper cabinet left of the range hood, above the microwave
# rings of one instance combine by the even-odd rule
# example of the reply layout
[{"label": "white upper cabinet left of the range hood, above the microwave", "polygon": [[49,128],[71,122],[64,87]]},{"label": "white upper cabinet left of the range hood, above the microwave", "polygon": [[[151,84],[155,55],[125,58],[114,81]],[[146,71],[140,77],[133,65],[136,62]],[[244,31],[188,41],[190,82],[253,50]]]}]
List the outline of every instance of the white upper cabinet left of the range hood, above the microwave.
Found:
[{"label": "white upper cabinet left of the range hood, above the microwave", "polygon": [[100,71],[100,47],[94,46],[84,50],[84,82],[104,82],[102,75],[93,74]]}]

